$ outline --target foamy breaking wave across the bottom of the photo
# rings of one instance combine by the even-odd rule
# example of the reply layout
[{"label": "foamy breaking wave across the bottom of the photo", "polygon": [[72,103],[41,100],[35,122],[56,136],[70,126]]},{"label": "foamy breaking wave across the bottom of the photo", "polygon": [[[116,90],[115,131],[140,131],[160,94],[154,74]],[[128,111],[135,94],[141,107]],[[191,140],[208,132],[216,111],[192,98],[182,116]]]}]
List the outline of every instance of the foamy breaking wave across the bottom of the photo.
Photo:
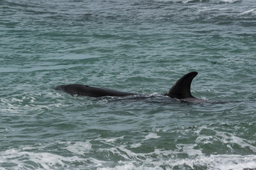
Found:
[{"label": "foamy breaking wave across the bottom of the photo", "polygon": [[[128,142],[127,136],[96,137],[92,140],[57,141],[53,144],[36,144],[20,146],[0,152],[0,169],[255,169],[255,154],[207,154],[203,147],[215,142],[234,150],[240,146],[256,152],[252,141],[235,137],[230,132],[218,132],[217,128],[201,127],[192,130],[196,137],[195,143],[179,142],[174,149],[159,147],[152,143],[173,145],[163,140],[166,130],[153,128],[137,142]],[[206,131],[214,130],[214,136],[206,135]],[[177,133],[178,131],[174,132]],[[183,136],[191,130],[181,130]],[[171,135],[169,136],[171,137]],[[169,138],[168,137],[168,138]],[[203,145],[203,147],[201,146]],[[234,148],[233,148],[234,147]]]}]

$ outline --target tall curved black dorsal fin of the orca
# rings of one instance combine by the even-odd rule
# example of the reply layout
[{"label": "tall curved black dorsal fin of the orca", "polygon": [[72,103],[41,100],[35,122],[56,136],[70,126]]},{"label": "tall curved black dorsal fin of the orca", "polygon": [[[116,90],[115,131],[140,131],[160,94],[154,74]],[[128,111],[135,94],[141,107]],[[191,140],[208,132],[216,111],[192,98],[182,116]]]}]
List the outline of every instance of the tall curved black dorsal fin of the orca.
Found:
[{"label": "tall curved black dorsal fin of the orca", "polygon": [[194,98],[191,95],[191,82],[197,74],[197,72],[190,72],[178,79],[165,96],[177,99]]}]

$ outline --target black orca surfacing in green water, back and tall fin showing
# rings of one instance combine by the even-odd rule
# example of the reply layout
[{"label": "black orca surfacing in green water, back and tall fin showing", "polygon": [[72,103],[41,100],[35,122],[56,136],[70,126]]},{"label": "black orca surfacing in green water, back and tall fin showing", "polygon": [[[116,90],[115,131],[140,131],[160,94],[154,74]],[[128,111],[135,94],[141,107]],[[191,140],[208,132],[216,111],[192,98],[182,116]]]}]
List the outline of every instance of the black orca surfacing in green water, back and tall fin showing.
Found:
[{"label": "black orca surfacing in green water, back and tall fin showing", "polygon": [[[185,74],[183,77],[178,79],[174,86],[164,94],[164,96],[169,96],[170,98],[176,98],[179,101],[186,102],[206,102],[203,99],[195,98],[191,95],[191,82],[198,72],[190,72]],[[55,90],[65,91],[68,94],[76,96],[90,96],[90,97],[102,97],[102,96],[131,96],[139,95],[137,93],[129,93],[116,91],[112,89],[100,88],[95,86],[87,86],[82,84],[68,84],[56,86]]]}]

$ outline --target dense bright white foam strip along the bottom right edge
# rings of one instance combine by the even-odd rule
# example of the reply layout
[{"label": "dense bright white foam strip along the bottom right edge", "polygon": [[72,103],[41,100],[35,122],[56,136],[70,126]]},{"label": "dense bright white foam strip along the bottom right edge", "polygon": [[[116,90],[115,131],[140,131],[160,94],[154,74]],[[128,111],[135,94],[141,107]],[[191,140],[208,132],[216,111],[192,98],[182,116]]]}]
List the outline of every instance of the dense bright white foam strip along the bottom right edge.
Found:
[{"label": "dense bright white foam strip along the bottom right edge", "polygon": [[[164,168],[163,168],[164,166]],[[243,170],[255,169],[256,156],[240,156],[240,155],[210,155],[209,157],[197,157],[196,159],[162,159],[154,161],[153,159],[146,159],[141,165],[137,162],[119,162],[119,165],[114,167],[98,167],[98,170],[123,170],[123,169],[201,169],[208,170]],[[200,169],[200,168],[199,168]]]}]

